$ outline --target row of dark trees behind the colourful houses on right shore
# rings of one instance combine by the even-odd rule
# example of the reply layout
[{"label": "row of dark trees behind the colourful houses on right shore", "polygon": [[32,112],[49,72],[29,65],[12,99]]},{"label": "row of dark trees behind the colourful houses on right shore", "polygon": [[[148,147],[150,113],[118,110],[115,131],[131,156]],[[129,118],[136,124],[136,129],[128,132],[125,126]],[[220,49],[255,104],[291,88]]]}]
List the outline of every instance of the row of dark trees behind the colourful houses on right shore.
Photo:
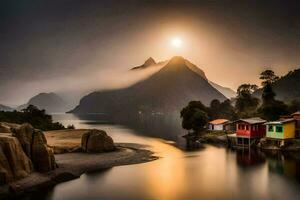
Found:
[{"label": "row of dark trees behind the colourful houses on right shore", "polygon": [[[273,90],[274,83],[279,79],[272,70],[265,70],[260,74],[262,95],[261,101],[253,95],[258,86],[242,84],[237,89],[237,97],[233,100],[212,100],[209,107],[199,101],[192,101],[181,111],[182,127],[199,132],[203,130],[208,120],[225,118],[235,120],[260,116],[273,121],[282,115],[291,114],[300,110],[300,100],[296,99],[289,105],[277,100]],[[234,106],[233,106],[234,105]]]}]

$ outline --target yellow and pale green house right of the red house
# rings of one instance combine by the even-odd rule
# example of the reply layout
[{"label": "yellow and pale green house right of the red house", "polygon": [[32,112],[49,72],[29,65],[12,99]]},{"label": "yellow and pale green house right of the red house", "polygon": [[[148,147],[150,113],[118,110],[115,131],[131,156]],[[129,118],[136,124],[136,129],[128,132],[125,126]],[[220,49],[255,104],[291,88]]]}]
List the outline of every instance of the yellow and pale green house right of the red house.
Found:
[{"label": "yellow and pale green house right of the red house", "polygon": [[280,140],[295,138],[296,121],[293,118],[267,122],[265,125],[267,138]]}]

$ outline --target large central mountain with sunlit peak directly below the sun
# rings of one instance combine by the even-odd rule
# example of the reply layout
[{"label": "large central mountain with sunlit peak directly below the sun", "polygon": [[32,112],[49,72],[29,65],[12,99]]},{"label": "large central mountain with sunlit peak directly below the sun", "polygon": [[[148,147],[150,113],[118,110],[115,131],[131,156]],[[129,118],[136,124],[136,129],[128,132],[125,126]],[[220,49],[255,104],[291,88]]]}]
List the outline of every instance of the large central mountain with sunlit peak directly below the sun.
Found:
[{"label": "large central mountain with sunlit peak directly below the sun", "polygon": [[182,57],[173,57],[147,79],[123,89],[93,92],[70,112],[173,112],[191,100],[208,105],[213,99],[223,101],[226,97],[210,85],[202,70]]}]

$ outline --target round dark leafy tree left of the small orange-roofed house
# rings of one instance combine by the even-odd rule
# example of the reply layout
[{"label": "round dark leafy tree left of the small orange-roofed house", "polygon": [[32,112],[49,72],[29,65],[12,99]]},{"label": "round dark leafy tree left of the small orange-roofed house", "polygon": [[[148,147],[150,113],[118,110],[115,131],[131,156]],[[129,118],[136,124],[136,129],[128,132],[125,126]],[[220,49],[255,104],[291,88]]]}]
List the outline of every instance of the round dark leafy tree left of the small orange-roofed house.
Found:
[{"label": "round dark leafy tree left of the small orange-roofed house", "polygon": [[191,101],[180,112],[182,128],[193,130],[195,133],[203,131],[208,122],[207,108],[200,101]]}]

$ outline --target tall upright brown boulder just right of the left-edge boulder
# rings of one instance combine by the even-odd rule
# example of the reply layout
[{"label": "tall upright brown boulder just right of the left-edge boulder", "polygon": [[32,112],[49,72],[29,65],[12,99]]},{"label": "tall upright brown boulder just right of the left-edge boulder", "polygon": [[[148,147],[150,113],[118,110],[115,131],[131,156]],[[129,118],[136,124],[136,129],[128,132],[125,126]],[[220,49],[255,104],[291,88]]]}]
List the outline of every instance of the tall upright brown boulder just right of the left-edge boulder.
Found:
[{"label": "tall upright brown boulder just right of the left-edge boulder", "polygon": [[20,141],[25,154],[31,159],[35,170],[48,172],[56,168],[53,150],[48,147],[43,132],[30,124],[12,129],[13,136]]}]

